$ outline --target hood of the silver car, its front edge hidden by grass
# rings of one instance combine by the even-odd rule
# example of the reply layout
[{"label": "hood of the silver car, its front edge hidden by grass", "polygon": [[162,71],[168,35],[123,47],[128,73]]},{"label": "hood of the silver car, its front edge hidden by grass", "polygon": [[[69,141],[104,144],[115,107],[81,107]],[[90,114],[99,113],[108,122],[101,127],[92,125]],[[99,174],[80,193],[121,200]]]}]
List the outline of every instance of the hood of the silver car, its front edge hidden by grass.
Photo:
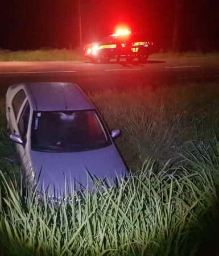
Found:
[{"label": "hood of the silver car, its front edge hidden by grass", "polygon": [[[98,150],[82,152],[40,152],[31,151],[35,179],[56,193],[64,191],[65,180],[74,180],[76,188],[93,184],[90,175],[105,178],[124,175],[127,172],[121,156],[114,145]],[[89,175],[90,174],[90,175]],[[38,178],[39,177],[39,178]]]}]

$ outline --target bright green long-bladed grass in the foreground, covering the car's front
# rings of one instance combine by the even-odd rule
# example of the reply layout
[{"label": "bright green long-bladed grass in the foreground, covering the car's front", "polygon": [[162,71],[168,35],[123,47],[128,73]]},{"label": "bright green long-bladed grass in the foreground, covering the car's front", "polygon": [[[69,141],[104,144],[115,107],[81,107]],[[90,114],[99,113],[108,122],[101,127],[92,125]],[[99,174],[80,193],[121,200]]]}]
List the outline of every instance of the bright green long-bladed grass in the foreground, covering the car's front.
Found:
[{"label": "bright green long-bladed grass in the foreground, covering the car's front", "polygon": [[[34,200],[31,191],[24,196],[2,176],[1,249],[7,255],[194,255],[196,245],[187,244],[191,226],[217,198],[217,184],[210,170],[200,175],[167,164],[155,174],[154,166],[147,160],[118,186],[97,185],[60,205]],[[71,195],[77,198],[73,187]]]}]

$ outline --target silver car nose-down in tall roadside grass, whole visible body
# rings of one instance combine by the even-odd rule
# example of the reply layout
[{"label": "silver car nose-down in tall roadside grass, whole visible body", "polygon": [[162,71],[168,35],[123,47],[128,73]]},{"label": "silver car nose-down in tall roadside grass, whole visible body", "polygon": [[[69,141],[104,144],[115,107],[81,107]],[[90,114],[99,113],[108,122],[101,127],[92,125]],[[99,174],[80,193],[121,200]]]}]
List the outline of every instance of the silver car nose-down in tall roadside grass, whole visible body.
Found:
[{"label": "silver car nose-down in tall roadside grass, whole visible body", "polygon": [[125,175],[127,168],[96,108],[77,85],[35,82],[11,85],[6,116],[26,177],[55,188],[60,195],[66,181],[90,183],[90,175]]}]

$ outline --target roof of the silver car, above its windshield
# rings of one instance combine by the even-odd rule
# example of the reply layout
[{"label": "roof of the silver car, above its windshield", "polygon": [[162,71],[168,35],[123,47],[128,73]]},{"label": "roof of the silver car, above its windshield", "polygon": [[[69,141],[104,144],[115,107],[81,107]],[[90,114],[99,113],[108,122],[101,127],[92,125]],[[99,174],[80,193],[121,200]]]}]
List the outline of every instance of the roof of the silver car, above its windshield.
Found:
[{"label": "roof of the silver car, above its windshield", "polygon": [[[76,85],[69,82],[31,82],[23,84],[34,110],[83,110],[94,105]],[[16,85],[15,85],[16,86]]]}]

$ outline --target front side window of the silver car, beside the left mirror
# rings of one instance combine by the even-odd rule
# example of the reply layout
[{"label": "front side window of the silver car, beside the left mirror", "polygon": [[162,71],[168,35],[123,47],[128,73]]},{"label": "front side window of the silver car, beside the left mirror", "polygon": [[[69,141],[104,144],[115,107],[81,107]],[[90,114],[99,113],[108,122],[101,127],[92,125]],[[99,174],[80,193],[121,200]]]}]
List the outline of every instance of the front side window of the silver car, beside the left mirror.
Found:
[{"label": "front side window of the silver car, beside the left mirror", "polygon": [[30,118],[30,104],[27,101],[26,104],[24,105],[24,108],[22,110],[22,113],[20,114],[20,118],[18,121],[18,129],[22,139],[24,139],[27,135],[29,118]]}]

